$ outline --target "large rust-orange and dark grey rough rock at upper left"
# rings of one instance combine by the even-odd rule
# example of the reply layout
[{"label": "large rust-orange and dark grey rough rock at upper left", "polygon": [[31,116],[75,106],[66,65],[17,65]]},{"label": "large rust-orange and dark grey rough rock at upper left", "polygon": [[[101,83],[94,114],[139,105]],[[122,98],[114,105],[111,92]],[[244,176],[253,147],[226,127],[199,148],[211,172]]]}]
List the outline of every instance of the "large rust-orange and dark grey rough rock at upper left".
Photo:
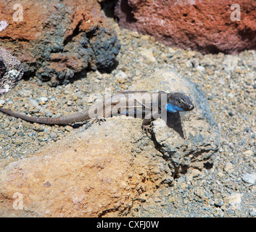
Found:
[{"label": "large rust-orange and dark grey rough rock at upper left", "polygon": [[26,77],[36,75],[56,86],[87,70],[109,72],[115,67],[120,43],[96,0],[22,0],[17,11],[23,17],[16,21],[14,4],[0,3],[1,17],[9,23],[0,46],[15,51]]}]

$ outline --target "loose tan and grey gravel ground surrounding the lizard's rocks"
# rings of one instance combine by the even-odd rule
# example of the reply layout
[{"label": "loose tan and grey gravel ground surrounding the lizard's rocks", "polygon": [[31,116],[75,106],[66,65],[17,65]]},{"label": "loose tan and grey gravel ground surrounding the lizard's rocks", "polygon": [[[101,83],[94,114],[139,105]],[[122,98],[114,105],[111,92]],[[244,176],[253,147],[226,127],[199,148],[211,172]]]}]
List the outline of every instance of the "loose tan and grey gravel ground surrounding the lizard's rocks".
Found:
[{"label": "loose tan and grey gravel ground surrounding the lizard's rocks", "polygon": [[[218,157],[212,167],[191,169],[173,186],[134,202],[128,216],[256,217],[256,51],[202,55],[113,25],[122,47],[111,73],[88,72],[57,88],[35,77],[21,80],[1,96],[0,107],[35,117],[68,115],[86,109],[106,91],[126,90],[157,68],[175,68],[205,91],[223,136]],[[0,114],[0,160],[28,157],[80,130],[83,126],[38,125]]]}]

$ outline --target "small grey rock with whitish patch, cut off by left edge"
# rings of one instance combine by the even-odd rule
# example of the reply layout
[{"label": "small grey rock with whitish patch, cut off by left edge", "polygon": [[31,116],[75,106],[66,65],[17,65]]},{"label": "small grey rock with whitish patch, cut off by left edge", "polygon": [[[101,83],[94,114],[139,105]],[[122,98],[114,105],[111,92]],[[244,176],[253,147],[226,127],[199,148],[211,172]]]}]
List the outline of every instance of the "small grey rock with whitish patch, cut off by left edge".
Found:
[{"label": "small grey rock with whitish patch, cut off by left edge", "polygon": [[0,95],[17,86],[23,75],[20,61],[0,47]]}]

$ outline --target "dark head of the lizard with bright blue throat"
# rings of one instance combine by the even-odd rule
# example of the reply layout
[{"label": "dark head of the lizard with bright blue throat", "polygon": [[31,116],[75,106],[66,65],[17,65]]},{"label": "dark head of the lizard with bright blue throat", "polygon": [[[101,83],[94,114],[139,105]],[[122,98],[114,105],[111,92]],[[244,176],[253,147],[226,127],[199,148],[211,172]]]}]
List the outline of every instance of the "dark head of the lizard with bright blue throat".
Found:
[{"label": "dark head of the lizard with bright blue throat", "polygon": [[190,111],[192,109],[194,109],[194,104],[189,96],[181,93],[168,94],[166,104],[166,110],[168,112]]}]

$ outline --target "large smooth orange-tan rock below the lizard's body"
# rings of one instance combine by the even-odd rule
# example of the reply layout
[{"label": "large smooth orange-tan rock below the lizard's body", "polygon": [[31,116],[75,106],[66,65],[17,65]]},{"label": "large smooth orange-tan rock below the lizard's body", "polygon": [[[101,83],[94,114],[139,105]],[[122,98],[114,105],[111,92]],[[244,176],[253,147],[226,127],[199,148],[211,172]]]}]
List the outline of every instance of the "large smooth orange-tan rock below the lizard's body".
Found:
[{"label": "large smooth orange-tan rock below the lizard's body", "polygon": [[[171,175],[152,146],[140,144],[139,149],[131,143],[141,130],[141,120],[136,121],[134,125],[132,120],[111,118],[46,146],[33,157],[8,165],[0,162],[0,215],[125,215],[141,194],[152,196],[153,189]],[[114,128],[119,133],[113,133]],[[14,208],[17,196],[22,197],[20,210]]]}]

